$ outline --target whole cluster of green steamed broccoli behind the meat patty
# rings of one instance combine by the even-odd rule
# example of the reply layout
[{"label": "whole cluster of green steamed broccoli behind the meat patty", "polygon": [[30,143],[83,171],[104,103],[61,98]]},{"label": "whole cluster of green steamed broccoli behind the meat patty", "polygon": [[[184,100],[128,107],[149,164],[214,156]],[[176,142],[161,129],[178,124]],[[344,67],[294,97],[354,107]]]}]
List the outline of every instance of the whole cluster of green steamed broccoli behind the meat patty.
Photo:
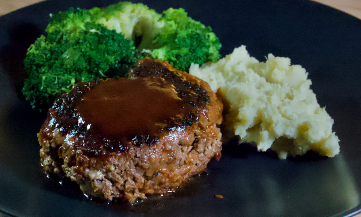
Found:
[{"label": "whole cluster of green steamed broccoli behind the meat patty", "polygon": [[49,105],[77,82],[124,76],[145,56],[188,71],[192,62],[217,61],[221,47],[210,27],[184,9],[158,14],[141,3],[70,8],[51,14],[45,31],[25,58],[29,78],[23,93],[33,106]]}]

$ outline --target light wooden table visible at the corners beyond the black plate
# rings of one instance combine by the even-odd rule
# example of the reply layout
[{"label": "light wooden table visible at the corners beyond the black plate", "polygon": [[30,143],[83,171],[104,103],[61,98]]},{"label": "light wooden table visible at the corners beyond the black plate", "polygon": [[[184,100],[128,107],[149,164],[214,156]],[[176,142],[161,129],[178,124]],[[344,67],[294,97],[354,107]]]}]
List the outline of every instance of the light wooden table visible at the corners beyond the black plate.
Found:
[{"label": "light wooden table visible at the corners beyond the black plate", "polygon": [[[12,12],[41,0],[0,0],[0,15]],[[121,1],[121,0],[119,0]],[[290,0],[292,1],[292,0]],[[361,19],[361,0],[316,0]],[[355,217],[361,217],[361,213]]]}]

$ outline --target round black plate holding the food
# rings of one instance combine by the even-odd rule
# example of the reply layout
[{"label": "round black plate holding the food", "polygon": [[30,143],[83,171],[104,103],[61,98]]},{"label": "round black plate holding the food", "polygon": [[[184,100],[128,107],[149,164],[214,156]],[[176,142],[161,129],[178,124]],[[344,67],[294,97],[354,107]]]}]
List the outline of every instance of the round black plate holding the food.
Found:
[{"label": "round black plate holding the food", "polygon": [[[183,7],[212,26],[222,55],[247,45],[252,56],[288,56],[309,72],[321,106],[334,118],[341,153],[278,160],[272,152],[224,146],[220,161],[171,195],[136,205],[85,198],[72,183],[48,179],[36,133],[44,113],[21,88],[26,49],[49,13],[109,1],[45,1],[0,17],[0,209],[14,216],[348,216],[361,209],[361,20],[312,1],[144,0],[161,12]],[[223,199],[214,195],[222,194]],[[1,215],[1,214],[0,214]]]}]

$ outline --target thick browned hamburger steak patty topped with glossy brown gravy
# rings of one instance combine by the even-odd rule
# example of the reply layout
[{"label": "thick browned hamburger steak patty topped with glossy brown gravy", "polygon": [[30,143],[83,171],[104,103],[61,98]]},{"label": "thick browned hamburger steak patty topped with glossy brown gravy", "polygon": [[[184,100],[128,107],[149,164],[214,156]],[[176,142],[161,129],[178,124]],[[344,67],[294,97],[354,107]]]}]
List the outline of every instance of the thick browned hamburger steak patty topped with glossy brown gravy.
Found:
[{"label": "thick browned hamburger steak patty topped with glossy brown gravy", "polygon": [[78,83],[38,133],[45,172],[131,203],[175,191],[221,157],[222,104],[209,85],[145,58],[130,78]]}]

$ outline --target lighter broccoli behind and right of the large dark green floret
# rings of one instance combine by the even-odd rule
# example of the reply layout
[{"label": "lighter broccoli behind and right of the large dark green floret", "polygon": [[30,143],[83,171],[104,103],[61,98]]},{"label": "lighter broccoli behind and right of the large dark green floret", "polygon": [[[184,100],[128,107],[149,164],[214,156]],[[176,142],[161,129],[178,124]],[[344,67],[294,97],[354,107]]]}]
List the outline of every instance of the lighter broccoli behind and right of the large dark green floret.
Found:
[{"label": "lighter broccoli behind and right of the large dark green floret", "polygon": [[120,2],[106,8],[73,9],[61,13],[48,29],[82,28],[88,21],[123,33],[139,50],[182,71],[188,71],[192,62],[202,65],[220,58],[221,43],[212,29],[188,17],[183,8],[158,14],[142,3]]}]

